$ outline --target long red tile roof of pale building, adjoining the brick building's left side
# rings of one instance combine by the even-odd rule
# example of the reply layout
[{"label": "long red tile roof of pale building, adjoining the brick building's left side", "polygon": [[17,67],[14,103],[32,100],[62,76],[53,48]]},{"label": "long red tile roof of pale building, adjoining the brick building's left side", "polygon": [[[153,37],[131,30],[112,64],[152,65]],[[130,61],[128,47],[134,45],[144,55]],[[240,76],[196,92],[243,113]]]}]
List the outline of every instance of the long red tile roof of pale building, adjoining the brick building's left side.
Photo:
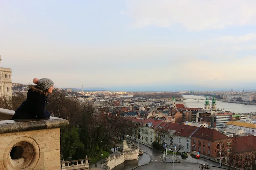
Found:
[{"label": "long red tile roof of pale building, adjoining the brick building's left side", "polygon": [[184,136],[184,137],[190,137],[191,134],[195,132],[196,129],[198,129],[198,127],[195,127],[195,126],[189,126],[189,125],[183,125],[183,124],[171,123],[171,122],[165,125],[164,128],[175,130],[175,135]]}]

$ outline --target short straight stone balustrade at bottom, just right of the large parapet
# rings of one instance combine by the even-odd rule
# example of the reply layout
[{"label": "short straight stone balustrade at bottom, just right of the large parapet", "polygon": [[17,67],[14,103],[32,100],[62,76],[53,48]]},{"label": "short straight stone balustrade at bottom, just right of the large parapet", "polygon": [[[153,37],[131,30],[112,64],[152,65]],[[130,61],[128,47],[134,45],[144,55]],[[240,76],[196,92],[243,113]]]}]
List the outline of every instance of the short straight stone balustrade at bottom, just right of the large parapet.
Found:
[{"label": "short straight stone balustrade at bottom, just right of the large parapet", "polygon": [[74,161],[62,161],[62,170],[73,170],[73,169],[89,169],[89,159],[80,159]]}]

